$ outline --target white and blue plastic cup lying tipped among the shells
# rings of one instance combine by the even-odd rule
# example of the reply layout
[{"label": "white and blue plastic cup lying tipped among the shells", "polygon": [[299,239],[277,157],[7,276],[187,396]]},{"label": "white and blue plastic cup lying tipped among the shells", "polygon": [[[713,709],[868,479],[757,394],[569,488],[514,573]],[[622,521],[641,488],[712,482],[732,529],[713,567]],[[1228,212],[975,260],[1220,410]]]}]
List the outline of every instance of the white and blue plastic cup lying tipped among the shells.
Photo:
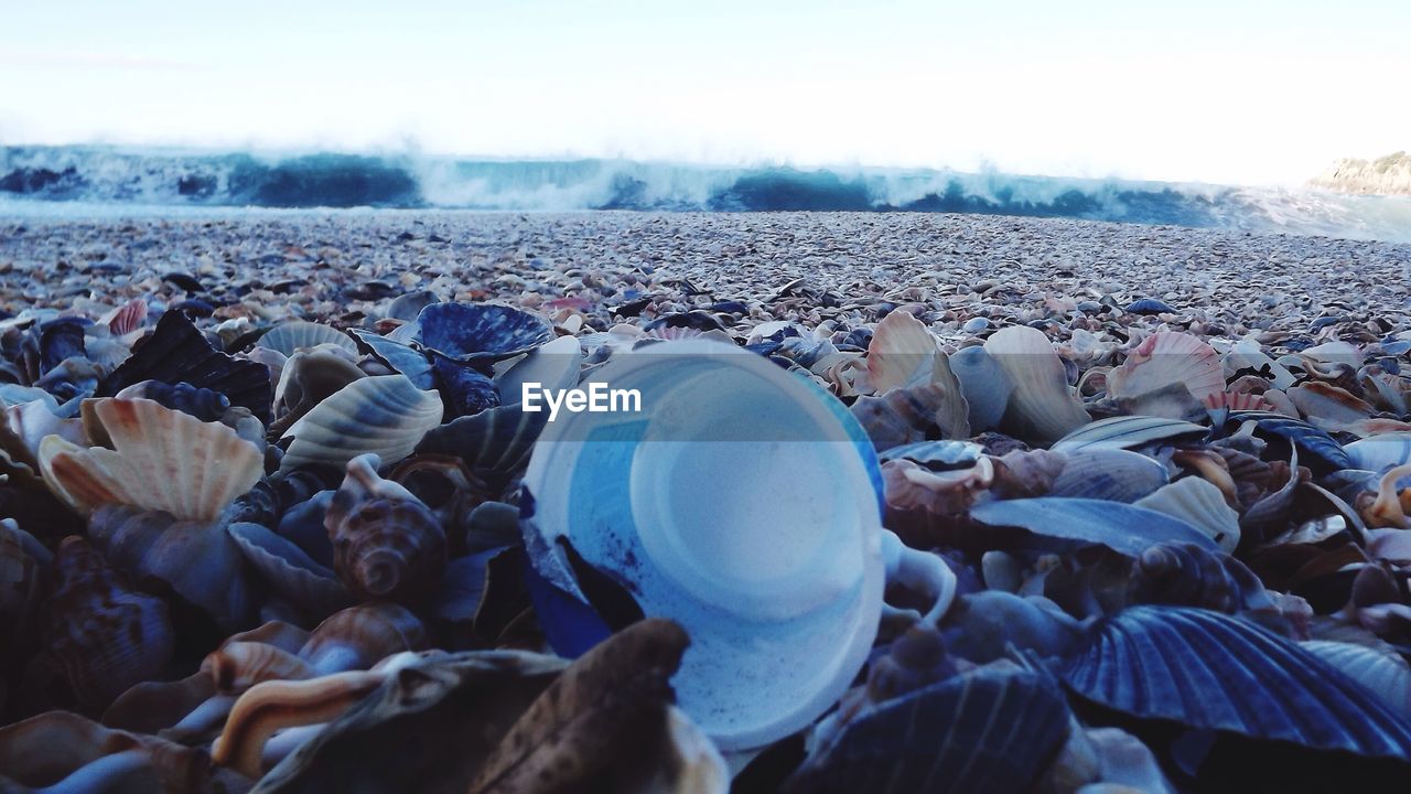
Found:
[{"label": "white and blue plastic cup lying tipped among the shells", "polygon": [[[646,615],[687,630],[677,702],[722,750],[806,728],[852,684],[882,610],[880,510],[848,417],[720,342],[652,345],[588,380],[639,389],[643,414],[560,414],[545,428],[525,475],[545,547],[567,535]],[[772,432],[711,441],[731,421]],[[636,442],[583,441],[631,422]],[[580,466],[611,468],[588,479],[629,504],[587,503]]]}]

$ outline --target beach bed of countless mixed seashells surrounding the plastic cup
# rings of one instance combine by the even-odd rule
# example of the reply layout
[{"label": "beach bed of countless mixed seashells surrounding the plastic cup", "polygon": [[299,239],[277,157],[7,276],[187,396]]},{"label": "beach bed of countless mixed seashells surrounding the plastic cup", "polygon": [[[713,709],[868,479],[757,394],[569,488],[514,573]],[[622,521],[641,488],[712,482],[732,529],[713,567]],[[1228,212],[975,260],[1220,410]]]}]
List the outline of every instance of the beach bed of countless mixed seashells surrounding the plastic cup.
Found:
[{"label": "beach bed of countless mixed seashells surrounding the plastic cup", "polygon": [[[1096,253],[1046,285],[902,254],[749,281],[729,263],[824,256],[779,232],[817,222],[711,220],[758,240],[673,271],[626,250],[632,225],[663,233],[643,218],[574,263],[533,251],[588,222],[545,219],[494,260],[476,232],[464,266],[436,253],[466,233],[444,219],[375,239],[409,261],[350,263],[312,222],[182,266],[154,243],[109,267],[83,227],[0,260],[0,788],[1404,788],[1404,264],[1345,297],[1260,264],[1267,300],[1240,302],[1223,271],[1163,290]],[[982,250],[972,232],[947,244]],[[955,578],[943,615],[883,615],[810,729],[728,759],[674,705],[674,623],[553,656],[518,526],[546,418],[519,386],[694,336],[851,410],[885,526]]]}]

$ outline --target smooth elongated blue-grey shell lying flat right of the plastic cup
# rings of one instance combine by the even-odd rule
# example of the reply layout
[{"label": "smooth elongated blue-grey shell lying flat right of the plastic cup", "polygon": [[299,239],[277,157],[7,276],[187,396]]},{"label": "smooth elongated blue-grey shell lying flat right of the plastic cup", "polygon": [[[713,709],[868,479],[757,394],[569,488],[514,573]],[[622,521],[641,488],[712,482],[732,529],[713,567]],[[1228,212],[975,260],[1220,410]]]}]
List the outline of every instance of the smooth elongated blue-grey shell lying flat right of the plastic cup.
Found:
[{"label": "smooth elongated blue-grey shell lying flat right of the plastic cup", "polygon": [[985,537],[989,538],[991,548],[1002,537],[999,530],[1003,527],[1027,531],[1031,535],[1027,543],[1041,548],[1099,544],[1127,557],[1136,557],[1158,543],[1194,543],[1202,548],[1216,548],[1204,533],[1180,519],[1118,502],[1006,499],[972,507],[969,514],[989,527]]}]

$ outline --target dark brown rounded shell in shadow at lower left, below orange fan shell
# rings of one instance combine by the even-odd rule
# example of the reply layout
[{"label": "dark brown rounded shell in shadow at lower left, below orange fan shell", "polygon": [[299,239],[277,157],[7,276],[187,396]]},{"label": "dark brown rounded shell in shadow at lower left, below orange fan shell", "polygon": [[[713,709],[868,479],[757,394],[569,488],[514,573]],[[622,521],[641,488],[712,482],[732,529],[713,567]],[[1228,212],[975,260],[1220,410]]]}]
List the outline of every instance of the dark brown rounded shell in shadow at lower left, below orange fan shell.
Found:
[{"label": "dark brown rounded shell in shadow at lower left, below orange fan shell", "polygon": [[127,578],[79,537],[54,555],[54,589],[41,612],[45,658],[79,704],[100,711],[128,687],[159,678],[175,648],[161,599]]}]

